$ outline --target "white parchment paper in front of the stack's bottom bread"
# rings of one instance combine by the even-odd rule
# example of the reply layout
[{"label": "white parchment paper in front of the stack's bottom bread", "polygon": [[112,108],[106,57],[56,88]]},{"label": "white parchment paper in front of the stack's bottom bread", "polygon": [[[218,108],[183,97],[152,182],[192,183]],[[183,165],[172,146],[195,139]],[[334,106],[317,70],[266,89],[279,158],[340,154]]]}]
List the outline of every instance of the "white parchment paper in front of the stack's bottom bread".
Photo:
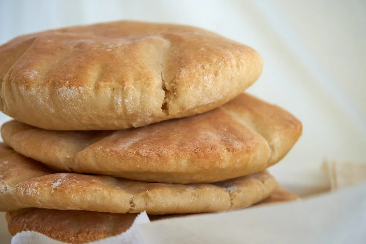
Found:
[{"label": "white parchment paper in front of the stack's bottom bread", "polygon": [[[36,232],[12,244],[59,244]],[[366,183],[303,199],[219,214],[150,222],[146,213],[124,234],[94,243],[366,243]]]}]

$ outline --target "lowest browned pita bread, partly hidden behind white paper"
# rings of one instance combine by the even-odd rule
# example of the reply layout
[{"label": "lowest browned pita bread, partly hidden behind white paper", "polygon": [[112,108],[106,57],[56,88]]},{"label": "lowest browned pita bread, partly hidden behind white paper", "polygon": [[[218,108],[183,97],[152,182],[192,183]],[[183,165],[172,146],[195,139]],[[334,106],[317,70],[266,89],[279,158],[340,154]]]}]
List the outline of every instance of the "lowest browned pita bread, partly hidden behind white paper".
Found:
[{"label": "lowest browned pita bread, partly hidden behind white paper", "polygon": [[[280,194],[278,194],[280,192]],[[276,195],[275,197],[272,197]],[[281,197],[282,198],[281,198]],[[284,188],[266,199],[269,202],[288,202],[295,194]],[[137,214],[101,213],[82,210],[22,209],[7,213],[9,232],[14,236],[23,230],[33,230],[53,239],[68,243],[86,243],[125,232]],[[184,214],[150,215],[151,221],[183,217]]]}]

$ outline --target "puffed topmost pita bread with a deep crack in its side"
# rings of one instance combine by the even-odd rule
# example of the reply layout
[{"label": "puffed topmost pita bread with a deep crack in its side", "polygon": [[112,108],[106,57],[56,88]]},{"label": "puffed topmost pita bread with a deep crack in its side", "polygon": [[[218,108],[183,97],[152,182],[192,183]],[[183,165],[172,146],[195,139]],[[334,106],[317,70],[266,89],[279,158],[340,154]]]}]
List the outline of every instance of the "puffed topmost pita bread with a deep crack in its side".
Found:
[{"label": "puffed topmost pita bread with a deep crack in its side", "polygon": [[255,50],[195,27],[75,26],[0,46],[0,109],[44,129],[140,127],[216,108],[261,72]]}]

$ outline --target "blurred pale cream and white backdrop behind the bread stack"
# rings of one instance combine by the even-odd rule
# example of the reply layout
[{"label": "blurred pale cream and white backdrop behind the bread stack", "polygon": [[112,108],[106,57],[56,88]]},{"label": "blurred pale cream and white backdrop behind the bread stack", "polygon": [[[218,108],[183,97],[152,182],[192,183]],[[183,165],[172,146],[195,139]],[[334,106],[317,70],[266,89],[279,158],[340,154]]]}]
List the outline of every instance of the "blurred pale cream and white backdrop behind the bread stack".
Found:
[{"label": "blurred pale cream and white backdrop behind the bread stack", "polygon": [[[362,0],[0,0],[0,43],[50,28],[134,19],[195,25],[250,45],[264,58],[250,93],[294,113],[304,127],[272,172],[304,191],[325,183],[324,158],[366,162],[365,13]],[[1,123],[8,119],[0,116]],[[0,243],[4,238],[0,233]]]}]

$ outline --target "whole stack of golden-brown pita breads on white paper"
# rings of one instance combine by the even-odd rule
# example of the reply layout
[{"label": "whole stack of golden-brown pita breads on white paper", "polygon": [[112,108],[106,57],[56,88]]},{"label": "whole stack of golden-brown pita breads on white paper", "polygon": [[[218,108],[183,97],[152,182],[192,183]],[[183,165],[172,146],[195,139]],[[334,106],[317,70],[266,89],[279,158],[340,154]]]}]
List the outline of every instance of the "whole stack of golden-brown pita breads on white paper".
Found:
[{"label": "whole stack of golden-brown pita breads on white paper", "polygon": [[255,50],[189,26],[120,21],[0,46],[0,210],[11,234],[69,243],[152,220],[298,196],[266,169],[294,146],[293,115],[243,93]]}]

